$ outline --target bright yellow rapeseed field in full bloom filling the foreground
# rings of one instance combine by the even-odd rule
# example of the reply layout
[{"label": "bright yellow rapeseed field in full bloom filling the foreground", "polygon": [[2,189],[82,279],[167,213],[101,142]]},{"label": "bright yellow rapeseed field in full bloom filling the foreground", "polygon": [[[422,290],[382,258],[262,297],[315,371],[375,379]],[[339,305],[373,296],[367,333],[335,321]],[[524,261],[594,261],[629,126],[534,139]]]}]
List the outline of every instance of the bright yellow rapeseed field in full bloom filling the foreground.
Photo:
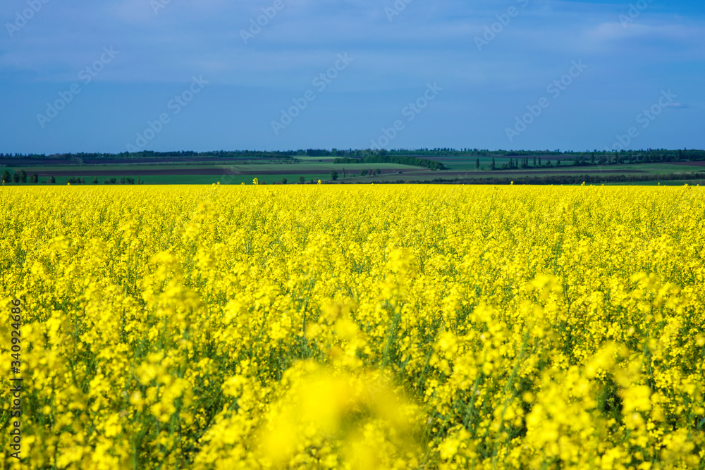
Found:
[{"label": "bright yellow rapeseed field in full bloom filling the foreground", "polygon": [[704,195],[0,187],[0,466],[703,469]]}]

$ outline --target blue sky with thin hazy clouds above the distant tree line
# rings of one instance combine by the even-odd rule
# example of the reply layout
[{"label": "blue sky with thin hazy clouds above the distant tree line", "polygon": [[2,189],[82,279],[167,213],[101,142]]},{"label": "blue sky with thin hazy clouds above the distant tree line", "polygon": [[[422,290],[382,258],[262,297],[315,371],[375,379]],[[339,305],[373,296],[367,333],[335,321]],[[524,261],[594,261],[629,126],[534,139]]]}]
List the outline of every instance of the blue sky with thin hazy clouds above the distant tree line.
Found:
[{"label": "blue sky with thin hazy clouds above the distant tree line", "polygon": [[407,1],[4,0],[0,152],[705,147],[701,0]]}]

